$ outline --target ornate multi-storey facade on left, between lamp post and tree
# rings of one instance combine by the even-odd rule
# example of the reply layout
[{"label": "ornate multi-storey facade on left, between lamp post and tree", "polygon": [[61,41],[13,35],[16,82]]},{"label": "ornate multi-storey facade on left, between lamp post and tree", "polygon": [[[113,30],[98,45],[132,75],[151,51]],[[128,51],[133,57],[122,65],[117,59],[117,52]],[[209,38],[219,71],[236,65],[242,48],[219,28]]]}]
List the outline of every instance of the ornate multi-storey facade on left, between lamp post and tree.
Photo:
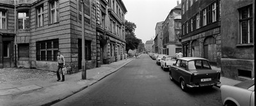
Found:
[{"label": "ornate multi-storey facade on left, between lamp post and tree", "polygon": [[97,0],[97,66],[124,59],[125,13],[122,0]]}]

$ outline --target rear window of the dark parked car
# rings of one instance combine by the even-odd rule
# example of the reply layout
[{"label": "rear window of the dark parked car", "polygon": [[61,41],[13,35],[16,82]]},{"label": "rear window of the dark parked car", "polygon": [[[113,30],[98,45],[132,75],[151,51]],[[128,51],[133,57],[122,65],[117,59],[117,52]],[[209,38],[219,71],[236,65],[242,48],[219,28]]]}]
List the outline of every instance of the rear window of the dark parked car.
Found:
[{"label": "rear window of the dark parked car", "polygon": [[211,69],[211,66],[206,60],[193,60],[188,62],[188,69],[189,70]]}]

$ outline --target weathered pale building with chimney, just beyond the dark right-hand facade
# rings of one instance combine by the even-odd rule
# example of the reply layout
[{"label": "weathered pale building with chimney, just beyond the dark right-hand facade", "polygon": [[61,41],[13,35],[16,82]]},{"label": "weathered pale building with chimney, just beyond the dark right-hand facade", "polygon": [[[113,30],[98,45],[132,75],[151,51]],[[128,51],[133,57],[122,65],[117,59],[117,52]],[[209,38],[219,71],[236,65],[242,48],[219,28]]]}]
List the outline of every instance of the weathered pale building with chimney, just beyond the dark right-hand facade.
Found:
[{"label": "weathered pale building with chimney, just beyond the dark right-hand facade", "polygon": [[163,22],[163,54],[175,56],[182,49],[181,37],[181,4],[173,8]]}]

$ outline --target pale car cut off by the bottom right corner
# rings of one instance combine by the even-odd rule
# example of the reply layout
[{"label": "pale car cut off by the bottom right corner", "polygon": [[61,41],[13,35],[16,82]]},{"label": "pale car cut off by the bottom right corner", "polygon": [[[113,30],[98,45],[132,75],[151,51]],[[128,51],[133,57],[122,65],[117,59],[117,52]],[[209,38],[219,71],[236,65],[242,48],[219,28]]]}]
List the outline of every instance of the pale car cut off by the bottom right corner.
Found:
[{"label": "pale car cut off by the bottom right corner", "polygon": [[223,105],[254,106],[254,80],[246,80],[235,86],[223,85],[220,90]]}]

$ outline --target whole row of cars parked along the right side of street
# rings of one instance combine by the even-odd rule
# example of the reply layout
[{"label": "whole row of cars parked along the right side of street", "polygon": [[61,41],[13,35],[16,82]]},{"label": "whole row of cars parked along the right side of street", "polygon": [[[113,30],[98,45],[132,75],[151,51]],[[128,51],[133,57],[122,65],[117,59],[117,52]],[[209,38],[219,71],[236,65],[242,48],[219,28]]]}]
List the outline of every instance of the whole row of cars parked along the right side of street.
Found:
[{"label": "whole row of cars parked along the right side of street", "polygon": [[[201,57],[166,56],[164,54],[149,54],[156,64],[169,72],[170,80],[179,82],[182,91],[192,87],[209,88],[220,84],[220,71],[212,70],[207,59]],[[254,80],[246,80],[235,86],[221,86],[223,105],[252,106],[255,103]]]}]

